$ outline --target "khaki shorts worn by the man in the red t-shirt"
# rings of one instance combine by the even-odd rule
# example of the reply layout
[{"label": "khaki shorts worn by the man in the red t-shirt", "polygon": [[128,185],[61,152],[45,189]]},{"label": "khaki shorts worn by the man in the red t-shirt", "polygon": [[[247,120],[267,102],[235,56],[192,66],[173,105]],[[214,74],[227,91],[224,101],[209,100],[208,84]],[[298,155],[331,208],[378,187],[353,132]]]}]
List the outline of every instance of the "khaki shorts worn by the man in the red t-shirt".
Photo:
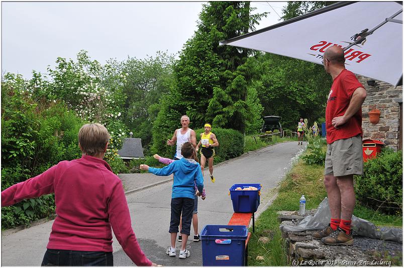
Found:
[{"label": "khaki shorts worn by the man in the red t-shirt", "polygon": [[360,135],[327,144],[324,175],[336,177],[363,174],[362,137]]}]

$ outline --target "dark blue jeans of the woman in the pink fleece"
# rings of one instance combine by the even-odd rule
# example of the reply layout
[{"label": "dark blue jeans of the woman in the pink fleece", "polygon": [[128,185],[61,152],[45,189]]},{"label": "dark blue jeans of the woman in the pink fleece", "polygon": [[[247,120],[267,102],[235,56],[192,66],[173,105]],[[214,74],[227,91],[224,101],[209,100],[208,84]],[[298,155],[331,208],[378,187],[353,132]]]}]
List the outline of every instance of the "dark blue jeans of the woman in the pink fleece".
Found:
[{"label": "dark blue jeans of the woman in the pink fleece", "polygon": [[41,266],[114,266],[112,252],[47,249]]}]

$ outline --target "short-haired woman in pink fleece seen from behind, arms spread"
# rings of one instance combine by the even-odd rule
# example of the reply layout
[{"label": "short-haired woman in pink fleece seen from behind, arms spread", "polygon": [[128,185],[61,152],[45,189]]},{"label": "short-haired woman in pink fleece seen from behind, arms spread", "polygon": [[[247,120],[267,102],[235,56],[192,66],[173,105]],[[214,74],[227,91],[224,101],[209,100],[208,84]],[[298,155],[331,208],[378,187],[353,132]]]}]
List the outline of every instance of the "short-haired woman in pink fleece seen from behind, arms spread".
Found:
[{"label": "short-haired woman in pink fleece seen from behind, arms spread", "polygon": [[136,265],[156,265],[133,232],[120,178],[103,160],[109,140],[103,125],[85,124],[78,132],[81,158],[61,161],[2,191],[2,207],[55,193],[57,216],[42,265],[113,266],[112,230]]}]

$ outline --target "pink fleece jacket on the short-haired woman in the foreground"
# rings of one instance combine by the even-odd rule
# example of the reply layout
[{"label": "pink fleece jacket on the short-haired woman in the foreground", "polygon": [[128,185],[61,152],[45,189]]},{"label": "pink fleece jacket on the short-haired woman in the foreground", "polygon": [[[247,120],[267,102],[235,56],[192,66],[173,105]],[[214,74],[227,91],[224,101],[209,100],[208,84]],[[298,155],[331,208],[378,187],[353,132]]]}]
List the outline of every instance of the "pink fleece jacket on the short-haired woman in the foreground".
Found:
[{"label": "pink fleece jacket on the short-haired woman in the foreground", "polygon": [[122,182],[106,161],[87,155],[61,161],[2,191],[2,207],[49,193],[55,193],[57,216],[47,248],[113,252],[112,227],[136,265],[152,264],[133,232]]}]

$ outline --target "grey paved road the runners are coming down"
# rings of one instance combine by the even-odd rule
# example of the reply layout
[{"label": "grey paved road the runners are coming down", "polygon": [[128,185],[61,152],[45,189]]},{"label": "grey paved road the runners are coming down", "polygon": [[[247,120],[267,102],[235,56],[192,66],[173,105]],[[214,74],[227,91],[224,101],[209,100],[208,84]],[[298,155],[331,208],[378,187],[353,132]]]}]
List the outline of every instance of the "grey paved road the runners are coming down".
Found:
[{"label": "grey paved road the runners are coming down", "polygon": [[[233,213],[229,188],[234,183],[261,183],[261,205],[258,213],[273,196],[271,189],[278,185],[290,167],[291,159],[302,149],[295,142],[280,143],[260,149],[215,166],[216,182],[205,176],[207,198],[199,199],[199,228],[206,224],[227,224]],[[142,249],[154,262],[165,266],[201,266],[201,242],[188,240],[191,256],[185,260],[168,257],[171,178],[153,174],[120,175],[127,193],[132,225]],[[155,185],[155,186],[153,186]],[[135,191],[134,191],[135,190]],[[53,221],[15,233],[2,233],[3,266],[38,266],[48,242]],[[191,227],[191,235],[193,230]],[[114,237],[114,264],[130,266],[127,257]],[[177,246],[179,243],[177,242]],[[177,256],[179,250],[177,250]]]}]

